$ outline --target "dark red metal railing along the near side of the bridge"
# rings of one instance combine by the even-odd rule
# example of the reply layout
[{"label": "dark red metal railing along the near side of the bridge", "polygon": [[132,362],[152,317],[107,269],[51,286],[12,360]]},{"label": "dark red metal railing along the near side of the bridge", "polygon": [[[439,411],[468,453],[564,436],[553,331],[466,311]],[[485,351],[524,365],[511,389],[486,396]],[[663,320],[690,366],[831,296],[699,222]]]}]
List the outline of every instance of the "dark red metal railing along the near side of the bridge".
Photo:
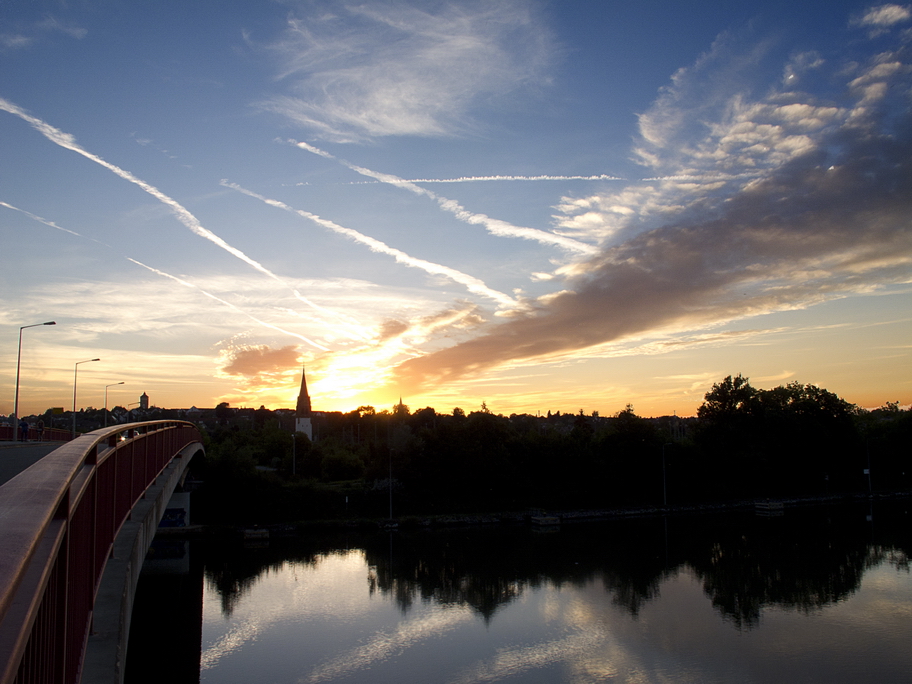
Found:
[{"label": "dark red metal railing along the near side of the bridge", "polygon": [[95,430],[0,486],[0,684],[77,684],[114,538],[199,431],[183,421]]}]

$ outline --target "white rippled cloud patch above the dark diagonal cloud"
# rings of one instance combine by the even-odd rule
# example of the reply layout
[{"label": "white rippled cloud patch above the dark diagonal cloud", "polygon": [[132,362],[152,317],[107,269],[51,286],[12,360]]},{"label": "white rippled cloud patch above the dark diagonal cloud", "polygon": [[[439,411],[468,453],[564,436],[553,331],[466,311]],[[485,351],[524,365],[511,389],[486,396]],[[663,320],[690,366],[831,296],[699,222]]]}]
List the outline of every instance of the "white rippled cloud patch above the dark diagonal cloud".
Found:
[{"label": "white rippled cloud patch above the dark diagonal cloud", "polygon": [[[875,130],[880,113],[906,106],[904,89],[894,87],[909,75],[899,53],[826,64],[818,52],[804,51],[786,60],[780,82],[769,83],[756,63],[771,51],[771,41],[729,32],[679,69],[639,116],[634,153],[655,175],[614,192],[564,198],[556,217],[561,232],[616,243],[721,210],[733,194],[821,150],[839,131]],[[838,78],[854,100],[825,89]]]}]

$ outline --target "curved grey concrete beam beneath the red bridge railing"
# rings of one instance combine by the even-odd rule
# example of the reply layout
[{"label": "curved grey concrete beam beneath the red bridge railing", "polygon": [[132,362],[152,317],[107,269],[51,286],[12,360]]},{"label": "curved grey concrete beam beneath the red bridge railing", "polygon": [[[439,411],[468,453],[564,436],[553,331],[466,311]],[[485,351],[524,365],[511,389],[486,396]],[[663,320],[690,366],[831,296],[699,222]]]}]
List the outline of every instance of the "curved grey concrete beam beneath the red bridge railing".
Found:
[{"label": "curved grey concrete beam beneath the red bridge railing", "polygon": [[194,443],[171,461],[133,507],[130,520],[114,540],[95,598],[81,684],[123,684],[133,596],[143,560],[171,495],[182,482],[190,460],[202,451],[203,447]]}]

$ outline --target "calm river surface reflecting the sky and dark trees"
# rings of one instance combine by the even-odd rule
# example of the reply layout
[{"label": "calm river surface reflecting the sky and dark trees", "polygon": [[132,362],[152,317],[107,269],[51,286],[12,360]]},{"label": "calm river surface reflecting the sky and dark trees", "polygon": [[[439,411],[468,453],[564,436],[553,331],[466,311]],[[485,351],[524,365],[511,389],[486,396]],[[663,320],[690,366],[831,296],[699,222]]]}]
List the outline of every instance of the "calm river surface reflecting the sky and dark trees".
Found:
[{"label": "calm river surface reflecting the sky and dark trees", "polygon": [[910,682],[909,507],[198,545],[182,676]]}]

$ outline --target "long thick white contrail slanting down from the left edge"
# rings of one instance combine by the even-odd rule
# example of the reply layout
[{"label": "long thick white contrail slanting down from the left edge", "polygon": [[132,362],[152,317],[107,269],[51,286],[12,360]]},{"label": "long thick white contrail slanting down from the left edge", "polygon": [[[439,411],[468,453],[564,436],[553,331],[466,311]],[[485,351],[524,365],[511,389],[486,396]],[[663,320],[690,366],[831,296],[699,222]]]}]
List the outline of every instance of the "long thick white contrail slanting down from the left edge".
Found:
[{"label": "long thick white contrail slanting down from the left edge", "polygon": [[[2,97],[0,97],[0,110],[4,110],[4,111],[9,112],[10,114],[14,114],[15,116],[18,116],[23,121],[26,121],[27,123],[31,124],[32,128],[37,130],[39,133],[41,133],[44,137],[46,137],[52,143],[54,143],[56,145],[60,145],[60,147],[63,147],[65,149],[76,152],[77,154],[81,154],[86,159],[89,159],[89,160],[95,162],[96,164],[103,166],[104,168],[108,169],[109,171],[112,171],[113,173],[120,176],[124,180],[129,181],[129,182],[133,183],[134,185],[139,186],[142,190],[149,193],[155,199],[157,199],[159,202],[161,202],[166,207],[168,207],[171,210],[171,212],[177,217],[178,221],[180,221],[182,224],[184,224],[184,226],[189,228],[193,233],[218,245],[219,247],[221,247],[228,253],[236,256],[238,259],[240,259],[244,263],[252,266],[256,270],[258,270],[260,273],[281,283],[282,285],[287,287],[289,290],[291,290],[292,293],[294,294],[294,296],[301,302],[303,302],[303,303],[307,304],[308,306],[311,306],[315,309],[326,311],[326,309],[324,309],[323,307],[319,306],[318,304],[315,304],[314,302],[310,301],[306,297],[303,297],[297,290],[290,287],[288,285],[288,283],[286,283],[284,280],[282,280],[279,276],[277,276],[275,273],[270,271],[268,268],[263,266],[261,263],[259,263],[258,261],[255,261],[254,259],[251,259],[249,256],[244,254],[241,250],[239,250],[235,247],[232,247],[227,242],[225,242],[222,238],[220,238],[218,235],[216,235],[212,231],[204,228],[200,224],[199,220],[193,214],[191,214],[190,211],[188,211],[183,205],[181,205],[177,200],[172,199],[171,197],[168,197],[168,195],[161,192],[158,188],[137,178],[129,171],[125,171],[124,169],[120,168],[119,166],[115,166],[114,164],[111,164],[110,162],[105,161],[101,157],[99,157],[95,154],[92,154],[91,152],[88,152],[87,150],[83,149],[76,143],[76,138],[74,136],[72,136],[71,134],[64,133],[60,129],[54,128],[54,126],[51,126],[49,123],[46,123],[46,122],[42,121],[41,119],[38,119],[38,118],[28,114],[22,108],[14,105],[12,102],[9,102],[9,101],[3,99]],[[338,315],[338,314],[336,314],[336,315]]]}]

